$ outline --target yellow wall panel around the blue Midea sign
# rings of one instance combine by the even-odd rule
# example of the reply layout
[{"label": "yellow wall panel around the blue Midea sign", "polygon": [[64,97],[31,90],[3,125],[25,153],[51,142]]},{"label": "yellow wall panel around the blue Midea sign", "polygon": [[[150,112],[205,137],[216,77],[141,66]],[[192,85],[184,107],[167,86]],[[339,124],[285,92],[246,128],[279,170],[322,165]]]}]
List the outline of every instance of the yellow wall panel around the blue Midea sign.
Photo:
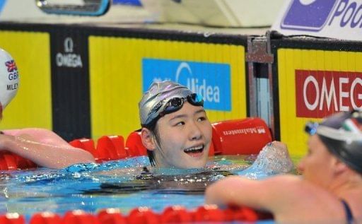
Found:
[{"label": "yellow wall panel around the blue Midea sign", "polygon": [[211,122],[246,117],[243,46],[91,36],[93,138],[104,134],[127,136],[140,128],[138,102],[142,95],[144,58],[229,64],[232,110],[208,110],[208,116]]}]

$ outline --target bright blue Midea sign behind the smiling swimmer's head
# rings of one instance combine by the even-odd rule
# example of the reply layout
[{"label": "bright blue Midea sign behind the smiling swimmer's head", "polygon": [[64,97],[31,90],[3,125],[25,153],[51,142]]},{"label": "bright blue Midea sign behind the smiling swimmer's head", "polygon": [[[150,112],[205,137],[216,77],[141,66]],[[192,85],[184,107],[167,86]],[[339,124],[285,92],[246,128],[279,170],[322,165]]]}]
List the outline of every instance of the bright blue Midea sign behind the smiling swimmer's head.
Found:
[{"label": "bright blue Midea sign behind the smiling swimmer's head", "polygon": [[153,81],[176,81],[204,97],[208,110],[231,110],[230,65],[142,59],[143,90]]}]

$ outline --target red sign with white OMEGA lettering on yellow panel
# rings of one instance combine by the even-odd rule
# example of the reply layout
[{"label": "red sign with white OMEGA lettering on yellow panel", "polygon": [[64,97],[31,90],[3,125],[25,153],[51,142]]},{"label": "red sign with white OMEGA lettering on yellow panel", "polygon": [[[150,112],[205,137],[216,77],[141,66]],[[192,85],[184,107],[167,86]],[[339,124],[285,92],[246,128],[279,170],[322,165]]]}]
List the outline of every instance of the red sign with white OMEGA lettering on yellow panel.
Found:
[{"label": "red sign with white OMEGA lettering on yellow panel", "polygon": [[296,116],[322,118],[362,109],[362,73],[296,70]]}]

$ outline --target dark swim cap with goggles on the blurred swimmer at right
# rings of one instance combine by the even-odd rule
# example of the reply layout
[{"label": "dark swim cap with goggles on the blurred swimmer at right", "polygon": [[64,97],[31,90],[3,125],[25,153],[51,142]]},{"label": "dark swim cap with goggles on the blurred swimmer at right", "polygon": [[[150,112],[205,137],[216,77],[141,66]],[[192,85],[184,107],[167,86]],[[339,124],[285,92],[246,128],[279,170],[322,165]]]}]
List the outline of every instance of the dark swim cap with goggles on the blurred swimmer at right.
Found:
[{"label": "dark swim cap with goggles on the blurred swimmer at right", "polygon": [[339,112],[307,124],[305,131],[317,134],[329,152],[362,174],[362,112]]}]

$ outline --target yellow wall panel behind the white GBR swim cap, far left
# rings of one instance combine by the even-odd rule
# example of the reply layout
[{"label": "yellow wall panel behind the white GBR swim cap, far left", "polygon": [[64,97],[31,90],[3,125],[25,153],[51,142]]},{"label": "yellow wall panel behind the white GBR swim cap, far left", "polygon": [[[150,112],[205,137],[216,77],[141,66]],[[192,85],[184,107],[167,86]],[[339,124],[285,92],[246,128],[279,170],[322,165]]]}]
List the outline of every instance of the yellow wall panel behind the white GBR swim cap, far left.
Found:
[{"label": "yellow wall panel behind the white GBR swim cap, far left", "polygon": [[1,129],[52,129],[49,34],[0,31],[0,47],[13,56],[20,74],[18,93],[4,111]]}]

